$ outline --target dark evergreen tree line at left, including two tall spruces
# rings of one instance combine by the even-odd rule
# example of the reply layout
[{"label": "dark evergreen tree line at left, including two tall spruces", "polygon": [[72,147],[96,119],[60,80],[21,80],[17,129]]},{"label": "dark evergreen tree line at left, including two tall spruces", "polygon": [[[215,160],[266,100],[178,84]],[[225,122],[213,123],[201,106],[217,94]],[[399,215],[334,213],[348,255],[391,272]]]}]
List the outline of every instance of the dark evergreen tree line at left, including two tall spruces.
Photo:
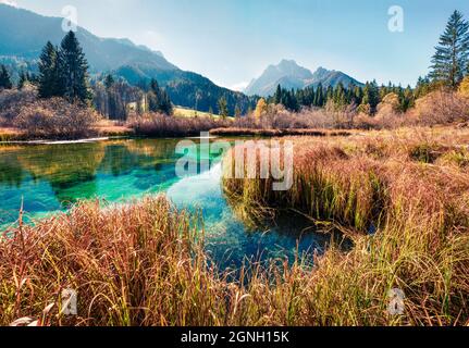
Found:
[{"label": "dark evergreen tree line at left, including two tall spruces", "polygon": [[[91,80],[88,62],[74,32],[63,38],[59,47],[48,41],[39,57],[38,75],[22,71],[17,88],[27,83],[38,89],[39,98],[60,97],[72,103],[91,104],[98,112],[114,120],[125,120],[128,105],[137,112],[171,114],[172,102],[156,79],[145,86],[131,86],[111,74]],[[12,77],[7,66],[0,66],[0,89],[12,89]]]}]

